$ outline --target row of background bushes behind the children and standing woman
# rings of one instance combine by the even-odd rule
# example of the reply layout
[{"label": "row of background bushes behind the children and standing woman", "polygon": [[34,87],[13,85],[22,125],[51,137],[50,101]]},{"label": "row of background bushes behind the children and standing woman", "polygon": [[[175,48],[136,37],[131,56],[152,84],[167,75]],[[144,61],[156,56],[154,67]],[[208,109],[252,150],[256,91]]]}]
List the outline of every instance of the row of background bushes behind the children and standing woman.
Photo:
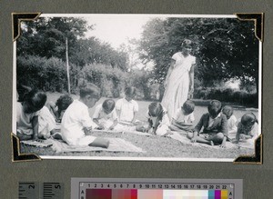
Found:
[{"label": "row of background bushes behind the children and standing woman", "polygon": [[[111,65],[93,64],[82,69],[70,66],[72,93],[78,92],[78,85],[90,82],[101,88],[105,97],[123,97],[126,86],[136,87],[136,99],[160,100],[164,90],[158,83],[153,84],[151,74],[145,70],[126,72]],[[50,92],[67,92],[66,63],[59,58],[35,55],[17,56],[17,83],[29,85]],[[196,84],[195,99],[217,99],[221,102],[258,107],[258,96],[246,90],[234,90],[223,85],[204,87]]]}]

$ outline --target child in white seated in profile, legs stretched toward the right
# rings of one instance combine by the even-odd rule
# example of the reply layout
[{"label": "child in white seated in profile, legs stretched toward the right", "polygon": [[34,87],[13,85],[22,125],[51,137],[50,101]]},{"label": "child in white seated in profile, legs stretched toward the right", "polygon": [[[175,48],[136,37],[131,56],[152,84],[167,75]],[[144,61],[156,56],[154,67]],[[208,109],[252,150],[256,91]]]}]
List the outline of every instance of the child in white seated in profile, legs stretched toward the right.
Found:
[{"label": "child in white seated in profile, legs stretched toward the right", "polygon": [[74,100],[68,106],[61,123],[62,137],[67,144],[108,147],[108,140],[86,134],[97,127],[89,116],[88,108],[93,107],[99,99],[100,89],[96,85],[86,84],[80,87],[79,100]]}]

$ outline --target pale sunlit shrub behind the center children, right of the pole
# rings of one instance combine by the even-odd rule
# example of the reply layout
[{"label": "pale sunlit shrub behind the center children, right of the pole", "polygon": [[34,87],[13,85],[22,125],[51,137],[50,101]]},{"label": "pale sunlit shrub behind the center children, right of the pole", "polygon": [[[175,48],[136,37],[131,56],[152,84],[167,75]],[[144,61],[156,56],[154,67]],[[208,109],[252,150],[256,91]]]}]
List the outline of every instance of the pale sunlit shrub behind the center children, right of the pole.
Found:
[{"label": "pale sunlit shrub behind the center children, right of the pole", "polygon": [[110,65],[86,65],[80,72],[83,81],[99,86],[106,97],[122,97],[126,86],[136,87],[136,99],[150,100],[150,75],[144,70],[125,72]]}]

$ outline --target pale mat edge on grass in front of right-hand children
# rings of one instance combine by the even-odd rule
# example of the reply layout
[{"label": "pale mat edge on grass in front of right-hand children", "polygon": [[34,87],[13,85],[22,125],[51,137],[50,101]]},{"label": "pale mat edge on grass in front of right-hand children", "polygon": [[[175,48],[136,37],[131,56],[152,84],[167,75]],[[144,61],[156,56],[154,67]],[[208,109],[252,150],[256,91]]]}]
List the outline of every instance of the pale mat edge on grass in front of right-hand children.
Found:
[{"label": "pale mat edge on grass in front of right-hand children", "polygon": [[[209,144],[201,144],[201,143],[191,143],[190,140],[186,137],[186,134],[179,134],[177,132],[172,131],[172,134],[168,135],[172,139],[175,139],[183,144],[191,144],[197,147],[213,147],[213,148],[220,148],[218,145],[209,145]],[[237,144],[232,144],[230,142],[226,142],[226,148],[238,148]]]}]

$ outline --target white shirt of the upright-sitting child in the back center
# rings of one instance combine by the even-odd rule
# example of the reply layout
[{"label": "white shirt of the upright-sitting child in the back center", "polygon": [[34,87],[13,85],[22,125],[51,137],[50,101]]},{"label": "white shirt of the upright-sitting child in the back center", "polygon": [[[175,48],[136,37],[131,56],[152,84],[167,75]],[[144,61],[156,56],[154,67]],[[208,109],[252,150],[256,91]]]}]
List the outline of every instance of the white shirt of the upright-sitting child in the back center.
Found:
[{"label": "white shirt of the upright-sitting child in the back center", "polygon": [[138,112],[138,104],[135,100],[128,102],[126,98],[122,98],[116,101],[116,110],[120,111],[118,118],[120,122],[131,123],[134,114]]}]

